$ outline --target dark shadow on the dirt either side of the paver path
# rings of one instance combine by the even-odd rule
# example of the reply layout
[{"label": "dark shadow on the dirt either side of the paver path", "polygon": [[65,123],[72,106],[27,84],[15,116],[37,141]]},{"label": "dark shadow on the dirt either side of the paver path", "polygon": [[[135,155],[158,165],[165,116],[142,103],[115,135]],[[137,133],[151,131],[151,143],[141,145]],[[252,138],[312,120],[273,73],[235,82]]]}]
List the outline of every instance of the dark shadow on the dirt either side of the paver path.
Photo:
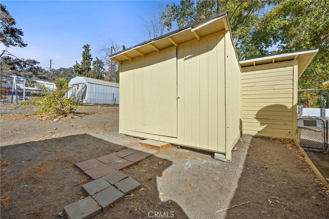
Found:
[{"label": "dark shadow on the dirt either side of the paver path", "polygon": [[[90,180],[74,164],[125,148],[88,134],[1,147],[2,217],[60,218],[64,206],[86,197],[82,185]],[[171,161],[150,156],[123,170],[143,190],[95,218],[148,218],[159,212],[187,218],[175,202],[159,199],[155,178],[171,165]]]}]

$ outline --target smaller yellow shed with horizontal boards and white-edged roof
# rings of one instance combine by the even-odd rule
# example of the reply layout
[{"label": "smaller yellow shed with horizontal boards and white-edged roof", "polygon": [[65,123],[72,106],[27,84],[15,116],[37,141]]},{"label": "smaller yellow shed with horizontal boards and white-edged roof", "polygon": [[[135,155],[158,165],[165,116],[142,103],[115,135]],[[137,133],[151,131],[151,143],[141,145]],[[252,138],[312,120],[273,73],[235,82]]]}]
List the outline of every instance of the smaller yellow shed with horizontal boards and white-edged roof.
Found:
[{"label": "smaller yellow shed with horizontal boards and white-edged roof", "polygon": [[296,137],[298,78],[317,52],[308,50],[240,62],[244,134]]}]

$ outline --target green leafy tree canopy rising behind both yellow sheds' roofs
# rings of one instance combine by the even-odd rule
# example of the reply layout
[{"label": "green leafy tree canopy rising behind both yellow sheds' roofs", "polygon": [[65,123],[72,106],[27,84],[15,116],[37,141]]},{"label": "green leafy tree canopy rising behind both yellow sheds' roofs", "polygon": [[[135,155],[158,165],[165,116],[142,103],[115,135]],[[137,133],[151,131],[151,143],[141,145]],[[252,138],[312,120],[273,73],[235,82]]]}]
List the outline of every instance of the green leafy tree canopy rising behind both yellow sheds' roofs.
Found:
[{"label": "green leafy tree canopy rising behind both yellow sheds' roofs", "polygon": [[[228,11],[241,60],[319,49],[299,79],[299,89],[321,88],[329,77],[329,1],[253,0],[180,1],[162,12],[168,30]],[[276,45],[278,51],[267,51]]]}]

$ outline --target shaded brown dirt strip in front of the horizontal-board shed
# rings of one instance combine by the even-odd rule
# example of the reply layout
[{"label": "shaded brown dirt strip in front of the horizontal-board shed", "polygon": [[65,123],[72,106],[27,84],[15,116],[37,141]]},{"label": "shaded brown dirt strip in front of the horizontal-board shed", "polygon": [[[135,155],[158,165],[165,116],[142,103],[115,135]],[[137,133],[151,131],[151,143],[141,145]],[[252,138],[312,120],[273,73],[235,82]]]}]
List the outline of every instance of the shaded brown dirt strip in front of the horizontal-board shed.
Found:
[{"label": "shaded brown dirt strip in front of the horizontal-board shed", "polygon": [[329,218],[328,196],[294,144],[251,136],[244,141],[250,146],[225,218]]}]

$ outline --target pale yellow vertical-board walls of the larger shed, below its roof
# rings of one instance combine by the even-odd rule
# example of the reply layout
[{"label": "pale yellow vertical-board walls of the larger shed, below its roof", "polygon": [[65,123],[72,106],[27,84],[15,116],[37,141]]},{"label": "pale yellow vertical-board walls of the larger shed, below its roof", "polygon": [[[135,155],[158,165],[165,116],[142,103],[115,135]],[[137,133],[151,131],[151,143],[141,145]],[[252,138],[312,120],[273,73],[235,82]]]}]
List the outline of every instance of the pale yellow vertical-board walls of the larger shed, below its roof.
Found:
[{"label": "pale yellow vertical-board walls of the larger shed, below its roof", "polygon": [[[171,71],[166,73],[172,74],[168,77],[170,81],[166,80],[167,77],[157,76],[162,69],[157,64],[161,63],[161,59],[148,63],[145,61],[148,55],[145,55],[121,63],[120,133],[223,153],[226,153],[226,142],[229,141],[231,149],[236,143],[235,140],[240,137],[241,93],[240,67],[229,36],[229,32],[215,33],[202,37],[200,41],[195,39],[180,44],[177,48],[171,48],[177,51],[177,81]],[[226,46],[229,47],[227,50]],[[163,51],[152,54],[158,56],[161,52]],[[229,56],[227,62],[226,56]],[[232,71],[227,72],[230,73],[228,81],[225,76],[226,68]],[[153,81],[145,78],[153,78]],[[153,89],[156,86],[160,89],[148,89],[150,82]],[[232,83],[232,86],[229,93],[226,93],[225,83],[228,82]],[[175,83],[177,91],[174,89]],[[169,95],[171,106],[177,104],[176,114],[168,114],[172,117],[163,113],[166,112],[165,109],[170,109],[165,105],[167,101],[163,99]],[[229,105],[226,105],[226,95],[230,98]],[[232,132],[228,135],[228,140],[226,107],[234,107],[233,110],[230,109],[230,116],[235,116],[229,120]],[[164,111],[156,112],[159,109]],[[171,126],[177,126],[176,137],[166,134],[165,130],[159,130],[167,124],[167,121],[160,121],[163,117],[169,121],[172,119]],[[154,125],[158,124],[159,127],[152,129],[156,130],[154,132],[142,131],[145,126],[139,126],[140,118],[145,121],[152,118]],[[174,120],[177,124],[174,124]]]}]

